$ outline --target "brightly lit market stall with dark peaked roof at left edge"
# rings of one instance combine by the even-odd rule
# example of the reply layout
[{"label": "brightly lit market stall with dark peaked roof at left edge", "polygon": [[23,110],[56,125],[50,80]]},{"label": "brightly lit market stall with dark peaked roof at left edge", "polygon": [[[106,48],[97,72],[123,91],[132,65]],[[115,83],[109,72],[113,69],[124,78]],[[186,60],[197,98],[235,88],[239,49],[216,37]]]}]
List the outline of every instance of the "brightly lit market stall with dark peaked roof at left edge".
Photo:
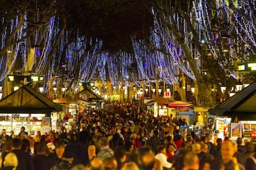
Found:
[{"label": "brightly lit market stall with dark peaked roof at left edge", "polygon": [[[62,108],[44,95],[26,85],[0,101],[0,129],[19,134],[24,126],[28,134],[48,131],[56,121],[51,121]],[[54,114],[54,112],[57,112]]]}]

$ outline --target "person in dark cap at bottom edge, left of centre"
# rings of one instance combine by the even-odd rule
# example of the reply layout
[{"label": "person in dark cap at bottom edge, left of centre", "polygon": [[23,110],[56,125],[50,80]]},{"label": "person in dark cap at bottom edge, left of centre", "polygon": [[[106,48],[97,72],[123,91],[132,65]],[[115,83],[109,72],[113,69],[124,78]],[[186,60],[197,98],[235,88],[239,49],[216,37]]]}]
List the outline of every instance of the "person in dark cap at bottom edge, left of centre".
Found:
[{"label": "person in dark cap at bottom edge, left of centre", "polygon": [[66,170],[71,168],[71,164],[74,161],[74,154],[71,152],[64,152],[61,158],[61,163],[56,164],[53,170]]}]

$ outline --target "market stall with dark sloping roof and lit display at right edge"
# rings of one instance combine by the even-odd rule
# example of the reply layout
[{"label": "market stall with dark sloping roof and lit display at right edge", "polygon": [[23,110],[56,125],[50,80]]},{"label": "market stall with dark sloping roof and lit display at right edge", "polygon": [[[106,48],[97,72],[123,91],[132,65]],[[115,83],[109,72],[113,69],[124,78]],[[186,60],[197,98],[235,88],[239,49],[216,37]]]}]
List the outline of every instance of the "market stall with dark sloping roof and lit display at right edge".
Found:
[{"label": "market stall with dark sloping roof and lit display at right edge", "polygon": [[231,118],[229,137],[247,137],[256,141],[256,82],[208,110],[215,118]]}]

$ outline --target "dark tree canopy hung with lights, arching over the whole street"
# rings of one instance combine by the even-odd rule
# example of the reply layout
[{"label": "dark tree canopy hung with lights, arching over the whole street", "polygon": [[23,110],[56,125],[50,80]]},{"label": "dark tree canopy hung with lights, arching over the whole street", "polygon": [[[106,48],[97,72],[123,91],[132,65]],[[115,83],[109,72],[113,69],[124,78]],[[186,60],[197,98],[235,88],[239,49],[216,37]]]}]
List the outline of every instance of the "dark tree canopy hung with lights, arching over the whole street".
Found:
[{"label": "dark tree canopy hung with lights, arching over the whole street", "polygon": [[73,89],[95,77],[148,86],[184,75],[211,103],[211,86],[241,78],[237,63],[255,58],[255,9],[253,0],[4,0],[0,81],[17,69]]}]

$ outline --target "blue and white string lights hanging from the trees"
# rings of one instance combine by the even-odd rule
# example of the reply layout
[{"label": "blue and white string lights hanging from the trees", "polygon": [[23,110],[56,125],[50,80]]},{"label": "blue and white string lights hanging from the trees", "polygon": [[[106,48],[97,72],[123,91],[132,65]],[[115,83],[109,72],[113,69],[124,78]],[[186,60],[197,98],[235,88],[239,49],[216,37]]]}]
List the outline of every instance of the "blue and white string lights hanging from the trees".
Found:
[{"label": "blue and white string lights hanging from the trees", "polygon": [[[247,15],[244,18],[242,15],[236,14],[232,9],[229,9],[229,1],[216,0],[216,25],[211,25],[210,11],[207,5],[207,0],[199,0],[197,3],[193,2],[194,11],[190,12],[190,22],[195,23],[195,31],[198,35],[198,42],[205,41],[202,45],[209,49],[209,53],[213,59],[215,59],[221,68],[226,68],[229,65],[234,65],[234,61],[239,58],[242,61],[248,61],[250,54],[256,54],[256,28],[255,28],[255,16],[256,10],[255,1],[247,0],[238,4],[236,1],[234,5]],[[172,10],[172,9],[170,9]],[[182,18],[180,14],[175,13],[171,16],[163,16],[166,23],[162,23],[158,18],[157,12],[152,9],[154,15],[154,28],[151,31],[151,36],[148,38],[155,49],[151,49],[145,41],[138,40],[134,36],[131,37],[132,47],[134,54],[127,54],[126,52],[116,52],[116,54],[110,54],[108,51],[101,51],[103,42],[100,39],[94,39],[85,36],[79,36],[79,30],[77,30],[76,37],[72,42],[69,39],[68,31],[61,31],[61,25],[58,22],[58,17],[51,17],[48,21],[46,28],[46,36],[42,47],[35,47],[35,54],[33,55],[33,61],[36,61],[35,69],[36,74],[41,75],[45,68],[48,69],[48,75],[51,78],[52,75],[58,75],[59,65],[65,62],[67,67],[62,70],[67,73],[67,79],[74,76],[74,65],[80,65],[79,78],[85,82],[89,82],[93,79],[96,71],[98,71],[100,79],[106,81],[106,67],[108,67],[109,77],[113,86],[120,85],[119,81],[123,81],[125,84],[129,84],[129,81],[136,82],[137,86],[141,86],[138,81],[143,81],[147,86],[148,83],[153,82],[155,79],[164,81],[168,84],[173,84],[179,81],[177,75],[181,70],[185,75],[191,79],[195,79],[195,75],[190,68],[189,62],[186,60],[186,55],[179,44],[177,44],[174,33],[172,30],[164,26],[166,23],[170,25],[177,25],[177,30],[180,31],[185,39],[184,43],[188,44],[189,51],[192,52],[192,58],[200,73],[202,73],[201,59],[203,54],[200,49],[192,46],[193,34],[189,30],[187,21]],[[24,19],[28,20],[27,12],[25,12]],[[40,9],[38,8],[38,2],[36,1],[36,20],[40,20]],[[195,21],[193,21],[195,18]],[[1,49],[6,46],[8,35],[13,33],[15,29],[19,28],[20,24],[19,11],[17,11],[17,17],[13,18],[9,27],[4,28],[1,34]],[[1,18],[2,25],[6,23],[5,18]],[[224,25],[223,22],[227,24]],[[212,31],[216,27],[216,31]],[[15,41],[20,41],[23,37],[27,36],[23,30],[26,30],[28,25],[23,23],[22,27],[14,36]],[[35,44],[39,44],[41,30],[35,30],[33,38]],[[229,38],[229,48],[227,52],[220,55],[220,51],[226,50],[226,42],[223,41],[221,36],[224,34],[231,35],[235,33],[236,38]],[[57,48],[53,49],[54,43],[57,41],[57,36],[61,34],[61,40],[57,44]],[[242,44],[246,46],[239,47]],[[90,50],[88,50],[90,49]],[[18,54],[22,52],[23,62],[27,63],[29,47],[28,41],[25,39],[22,45],[15,44],[12,47],[12,53],[4,54],[4,57],[0,59],[0,70],[2,75],[0,81],[2,81],[8,73],[12,70]],[[239,55],[238,55],[239,54]],[[240,55],[241,54],[241,55]],[[64,56],[64,57],[59,57]],[[51,62],[49,62],[49,60]],[[3,67],[4,63],[7,64]],[[79,63],[80,62],[80,63]],[[49,63],[49,65],[46,65]],[[26,67],[26,65],[23,65]],[[232,70],[225,70],[226,74],[236,78],[236,75]],[[67,80],[69,81],[69,80]]]}]

